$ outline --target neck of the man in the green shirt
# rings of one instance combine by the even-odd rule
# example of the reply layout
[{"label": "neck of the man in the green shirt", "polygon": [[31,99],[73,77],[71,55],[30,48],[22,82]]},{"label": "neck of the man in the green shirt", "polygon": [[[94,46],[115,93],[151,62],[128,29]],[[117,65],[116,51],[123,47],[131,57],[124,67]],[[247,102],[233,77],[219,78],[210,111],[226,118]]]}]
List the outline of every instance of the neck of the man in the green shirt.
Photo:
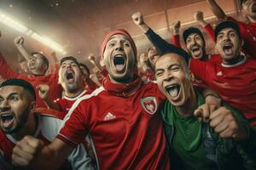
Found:
[{"label": "neck of the man in the green shirt", "polygon": [[197,97],[196,97],[194,88],[191,87],[189,99],[185,102],[184,105],[177,106],[176,110],[179,115],[185,117],[185,116],[192,115],[196,107],[197,107]]}]

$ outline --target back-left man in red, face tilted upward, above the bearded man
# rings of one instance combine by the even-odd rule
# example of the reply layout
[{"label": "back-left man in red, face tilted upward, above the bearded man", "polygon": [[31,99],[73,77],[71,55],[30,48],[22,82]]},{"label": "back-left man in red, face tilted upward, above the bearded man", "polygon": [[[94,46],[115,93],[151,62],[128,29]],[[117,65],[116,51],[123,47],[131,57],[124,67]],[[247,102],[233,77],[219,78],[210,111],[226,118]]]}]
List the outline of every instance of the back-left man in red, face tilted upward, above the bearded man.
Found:
[{"label": "back-left man in red, face tilted upward, above the bearded man", "polygon": [[[22,46],[23,42],[21,40],[17,40],[17,43],[20,43]],[[32,76],[20,75],[15,70],[13,70],[6,60],[3,58],[3,55],[0,54],[0,67],[1,67],[1,76],[4,79],[8,78],[20,78],[30,82],[34,88],[36,88],[39,84],[47,84],[50,89],[52,89],[52,93],[49,94],[49,99],[57,99],[61,97],[62,88],[61,85],[58,84],[58,73],[57,71],[53,74],[46,75],[46,71],[49,68],[49,61],[44,56],[44,54],[40,53],[32,53],[29,55],[28,60],[28,68],[31,71]],[[46,107],[44,105],[43,99],[40,99],[37,94],[37,107]]]}]

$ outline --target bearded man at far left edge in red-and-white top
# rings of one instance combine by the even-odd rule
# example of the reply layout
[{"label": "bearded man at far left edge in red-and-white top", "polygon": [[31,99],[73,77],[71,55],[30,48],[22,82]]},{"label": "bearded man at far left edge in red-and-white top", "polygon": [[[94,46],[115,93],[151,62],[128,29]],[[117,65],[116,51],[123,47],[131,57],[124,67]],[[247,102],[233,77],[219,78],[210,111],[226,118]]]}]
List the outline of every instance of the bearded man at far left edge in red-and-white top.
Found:
[{"label": "bearded man at far left edge in red-and-white top", "polygon": [[[40,144],[49,144],[61,122],[54,111],[36,110],[36,94],[29,82],[8,79],[0,85],[0,154],[7,161],[11,162],[15,145],[26,135],[41,139]],[[93,169],[82,144],[73,150],[68,161],[73,169]]]}]

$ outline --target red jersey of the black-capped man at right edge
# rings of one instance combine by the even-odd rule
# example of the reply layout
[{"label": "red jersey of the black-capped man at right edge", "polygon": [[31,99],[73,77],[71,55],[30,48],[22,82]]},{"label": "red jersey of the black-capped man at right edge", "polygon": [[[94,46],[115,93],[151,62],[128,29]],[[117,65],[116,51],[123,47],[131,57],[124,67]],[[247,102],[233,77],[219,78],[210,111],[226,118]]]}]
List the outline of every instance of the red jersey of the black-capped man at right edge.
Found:
[{"label": "red jersey of the black-capped man at right edge", "polygon": [[[209,88],[230,105],[239,109],[256,126],[256,60],[244,59],[236,65],[223,65],[190,59],[189,67]],[[254,119],[254,120],[253,120]]]}]

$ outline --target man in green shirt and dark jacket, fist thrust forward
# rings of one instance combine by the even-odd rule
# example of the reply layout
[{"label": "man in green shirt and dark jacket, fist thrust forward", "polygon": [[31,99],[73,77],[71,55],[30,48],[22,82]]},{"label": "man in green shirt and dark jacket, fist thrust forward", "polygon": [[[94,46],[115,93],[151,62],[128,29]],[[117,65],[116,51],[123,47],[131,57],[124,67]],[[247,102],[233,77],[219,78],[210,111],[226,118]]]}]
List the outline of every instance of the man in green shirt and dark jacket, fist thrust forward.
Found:
[{"label": "man in green shirt and dark jacket, fist thrust forward", "polygon": [[163,54],[156,60],[155,77],[166,95],[161,114],[173,169],[255,169],[256,161],[247,165],[243,159],[253,161],[256,154],[252,158],[241,151],[256,149],[255,131],[240,111],[224,102],[216,111],[201,115],[202,107],[211,106],[192,86],[183,57]]}]

